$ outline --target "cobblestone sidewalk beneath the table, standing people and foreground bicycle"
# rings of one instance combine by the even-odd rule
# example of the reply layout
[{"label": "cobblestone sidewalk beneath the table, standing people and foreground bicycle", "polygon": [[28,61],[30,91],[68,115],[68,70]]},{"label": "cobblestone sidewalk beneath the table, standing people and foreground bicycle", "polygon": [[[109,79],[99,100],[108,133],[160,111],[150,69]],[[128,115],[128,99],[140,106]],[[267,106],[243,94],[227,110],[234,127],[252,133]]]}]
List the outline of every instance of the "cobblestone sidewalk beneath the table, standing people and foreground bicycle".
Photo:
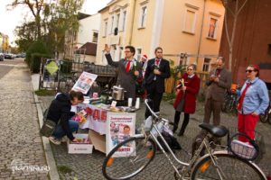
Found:
[{"label": "cobblestone sidewalk beneath the table, standing people and foreground bicycle", "polygon": [[[39,97],[42,105],[42,109],[47,107],[51,99],[53,97]],[[141,104],[141,109],[136,112],[136,126],[138,127],[140,123],[144,120],[144,112],[145,106]],[[173,105],[167,102],[162,102],[161,105],[161,112],[162,116],[166,119],[173,121]],[[185,131],[183,137],[177,137],[178,141],[182,145],[182,148],[187,150],[188,152],[191,151],[192,145],[192,138],[195,137],[200,128],[198,125],[203,120],[203,103],[198,103],[197,111],[195,114],[192,115],[191,121]],[[181,117],[181,122],[182,122]],[[221,124],[234,129],[237,125],[237,117],[222,113],[221,115]],[[179,124],[179,126],[181,126]],[[269,139],[271,135],[271,125],[270,124],[263,124],[258,122],[257,130],[264,135],[266,139],[266,149],[271,148],[271,141]],[[78,179],[105,179],[101,172],[101,166],[103,160],[105,158],[105,154],[99,152],[98,150],[94,150],[90,155],[70,155],[67,153],[67,146],[66,144],[61,144],[60,146],[51,145],[53,149],[53,154],[56,159],[57,166],[68,166],[72,173],[70,174],[63,174],[59,172],[63,179],[74,179],[75,177]],[[185,153],[183,150],[177,151],[177,157],[180,157],[182,160],[188,161],[190,155]],[[267,151],[262,160],[260,160],[258,165],[263,169],[266,175],[271,175],[271,152]],[[133,179],[173,179],[173,168],[169,164],[169,162],[165,159],[163,154],[157,154],[154,158],[154,161],[146,167],[146,169],[139,175],[136,175]]]}]

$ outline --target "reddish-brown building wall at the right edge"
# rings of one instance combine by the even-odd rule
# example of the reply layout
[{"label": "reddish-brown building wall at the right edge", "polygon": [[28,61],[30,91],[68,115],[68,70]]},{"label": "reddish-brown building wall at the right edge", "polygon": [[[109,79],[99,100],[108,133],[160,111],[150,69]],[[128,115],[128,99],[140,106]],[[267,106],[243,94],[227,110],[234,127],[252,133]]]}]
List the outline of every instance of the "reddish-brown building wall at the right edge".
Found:
[{"label": "reddish-brown building wall at the right edge", "polygon": [[[233,5],[230,8],[234,8]],[[248,1],[238,15],[236,35],[233,44],[233,82],[243,85],[246,67],[257,64],[262,78],[271,89],[271,2],[269,0]],[[232,16],[228,15],[229,34],[232,30]],[[226,31],[223,30],[220,54],[229,58]]]}]

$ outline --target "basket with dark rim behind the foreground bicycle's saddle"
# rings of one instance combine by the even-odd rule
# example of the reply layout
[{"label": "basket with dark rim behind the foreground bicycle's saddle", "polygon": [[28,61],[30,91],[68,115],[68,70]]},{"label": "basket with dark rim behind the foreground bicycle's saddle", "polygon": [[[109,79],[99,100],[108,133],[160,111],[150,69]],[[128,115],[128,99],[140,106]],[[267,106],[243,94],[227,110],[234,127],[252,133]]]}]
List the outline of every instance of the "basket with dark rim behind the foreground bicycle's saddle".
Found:
[{"label": "basket with dark rim behind the foreground bicycle's saddle", "polygon": [[244,133],[235,133],[229,139],[228,145],[232,154],[246,160],[255,160],[259,155],[256,141]]}]

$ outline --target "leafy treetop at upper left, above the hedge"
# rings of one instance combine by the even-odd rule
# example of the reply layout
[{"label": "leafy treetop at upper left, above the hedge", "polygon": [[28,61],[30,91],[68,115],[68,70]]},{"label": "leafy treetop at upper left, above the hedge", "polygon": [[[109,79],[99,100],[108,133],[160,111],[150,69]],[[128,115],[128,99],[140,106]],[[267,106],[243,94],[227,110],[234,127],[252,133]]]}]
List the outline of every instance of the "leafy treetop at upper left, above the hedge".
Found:
[{"label": "leafy treetop at upper left, above the hedge", "polygon": [[77,14],[84,0],[13,0],[13,8],[17,5],[29,7],[33,14],[32,22],[25,22],[16,28],[19,40],[16,43],[25,51],[35,40],[42,40],[53,53],[64,50],[65,32],[78,31]]}]

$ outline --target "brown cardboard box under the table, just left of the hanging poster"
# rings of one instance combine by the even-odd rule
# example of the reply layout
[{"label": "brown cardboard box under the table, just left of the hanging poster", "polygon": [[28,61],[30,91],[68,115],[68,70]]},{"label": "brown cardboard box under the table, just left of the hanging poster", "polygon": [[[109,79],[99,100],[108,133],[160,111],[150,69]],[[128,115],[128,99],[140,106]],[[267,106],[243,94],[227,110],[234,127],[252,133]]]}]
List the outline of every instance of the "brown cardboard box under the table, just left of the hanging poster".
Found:
[{"label": "brown cardboard box under the table, just left of the hanging poster", "polygon": [[95,130],[89,130],[89,138],[96,150],[106,153],[106,135],[100,135]]}]

